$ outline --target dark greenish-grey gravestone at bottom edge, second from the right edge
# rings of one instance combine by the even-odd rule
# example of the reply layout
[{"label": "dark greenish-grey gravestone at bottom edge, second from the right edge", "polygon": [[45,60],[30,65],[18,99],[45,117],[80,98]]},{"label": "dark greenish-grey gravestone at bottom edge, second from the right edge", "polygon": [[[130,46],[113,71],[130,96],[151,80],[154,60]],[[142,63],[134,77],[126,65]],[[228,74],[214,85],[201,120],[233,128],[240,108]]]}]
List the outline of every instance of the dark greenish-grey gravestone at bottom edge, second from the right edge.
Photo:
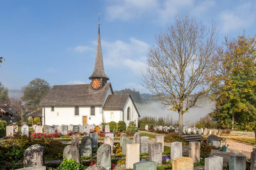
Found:
[{"label": "dark greenish-grey gravestone at bottom edge, second from the right edge", "polygon": [[245,170],[246,156],[245,155],[230,155],[229,170]]}]

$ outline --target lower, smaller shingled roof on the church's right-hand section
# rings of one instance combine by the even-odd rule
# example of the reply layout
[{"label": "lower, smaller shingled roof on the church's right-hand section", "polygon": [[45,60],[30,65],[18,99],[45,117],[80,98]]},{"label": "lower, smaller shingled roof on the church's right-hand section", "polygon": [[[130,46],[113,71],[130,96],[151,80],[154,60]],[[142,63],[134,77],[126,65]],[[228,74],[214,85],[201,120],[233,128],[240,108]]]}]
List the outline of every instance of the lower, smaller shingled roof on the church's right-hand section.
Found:
[{"label": "lower, smaller shingled roof on the church's right-hand section", "polygon": [[136,109],[139,117],[140,113],[136,108],[136,105],[134,104],[132,97],[130,94],[111,94],[108,97],[108,100],[106,101],[106,104],[104,105],[104,110],[124,110],[124,106],[127,102],[127,99],[130,97],[132,104],[134,105],[134,108]]}]

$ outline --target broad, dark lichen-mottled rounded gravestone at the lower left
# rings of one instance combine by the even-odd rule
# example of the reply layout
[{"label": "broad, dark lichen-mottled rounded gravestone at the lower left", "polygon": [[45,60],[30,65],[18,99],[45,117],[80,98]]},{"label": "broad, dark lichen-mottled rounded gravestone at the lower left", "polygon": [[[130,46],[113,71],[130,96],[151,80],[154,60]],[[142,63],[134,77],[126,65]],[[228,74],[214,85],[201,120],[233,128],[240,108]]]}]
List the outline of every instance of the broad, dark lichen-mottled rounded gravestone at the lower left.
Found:
[{"label": "broad, dark lichen-mottled rounded gravestone at the lower left", "polygon": [[44,166],[44,147],[38,144],[29,146],[23,154],[23,166]]}]

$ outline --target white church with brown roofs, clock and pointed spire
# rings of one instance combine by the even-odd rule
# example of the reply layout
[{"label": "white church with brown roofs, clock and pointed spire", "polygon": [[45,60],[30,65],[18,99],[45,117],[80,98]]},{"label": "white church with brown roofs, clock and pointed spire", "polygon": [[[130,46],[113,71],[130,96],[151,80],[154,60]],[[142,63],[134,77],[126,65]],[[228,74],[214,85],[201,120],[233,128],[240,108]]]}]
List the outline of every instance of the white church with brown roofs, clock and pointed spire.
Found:
[{"label": "white church with brown roofs, clock and pointed spire", "polygon": [[100,125],[120,120],[138,126],[138,112],[131,95],[114,94],[104,71],[100,44],[100,23],[95,66],[90,84],[54,85],[42,99],[43,125]]}]

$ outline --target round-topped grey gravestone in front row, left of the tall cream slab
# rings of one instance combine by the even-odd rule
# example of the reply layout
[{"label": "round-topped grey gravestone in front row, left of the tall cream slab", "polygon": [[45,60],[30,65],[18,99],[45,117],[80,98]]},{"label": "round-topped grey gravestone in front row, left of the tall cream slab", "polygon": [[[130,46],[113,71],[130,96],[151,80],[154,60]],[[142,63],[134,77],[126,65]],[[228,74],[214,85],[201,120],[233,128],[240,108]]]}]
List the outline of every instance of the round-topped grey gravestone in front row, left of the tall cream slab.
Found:
[{"label": "round-topped grey gravestone in front row, left of the tall cream slab", "polygon": [[97,165],[111,169],[111,146],[104,143],[97,150]]}]

